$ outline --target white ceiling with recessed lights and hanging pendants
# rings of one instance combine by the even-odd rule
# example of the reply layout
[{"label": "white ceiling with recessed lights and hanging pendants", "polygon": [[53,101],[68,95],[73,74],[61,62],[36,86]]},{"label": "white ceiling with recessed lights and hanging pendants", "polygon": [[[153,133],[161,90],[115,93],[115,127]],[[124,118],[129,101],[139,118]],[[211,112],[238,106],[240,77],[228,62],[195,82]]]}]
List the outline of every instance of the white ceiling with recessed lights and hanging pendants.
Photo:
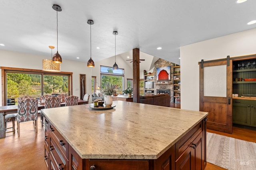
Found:
[{"label": "white ceiling with recessed lights and hanging pendants", "polygon": [[[49,56],[57,46],[63,59],[99,61],[139,48],[179,64],[180,47],[256,28],[256,0],[0,0],[0,49]],[[100,47],[100,49],[96,49]],[[157,50],[162,47],[162,50]],[[53,53],[56,53],[54,49]],[[130,56],[131,57],[131,56]]]}]

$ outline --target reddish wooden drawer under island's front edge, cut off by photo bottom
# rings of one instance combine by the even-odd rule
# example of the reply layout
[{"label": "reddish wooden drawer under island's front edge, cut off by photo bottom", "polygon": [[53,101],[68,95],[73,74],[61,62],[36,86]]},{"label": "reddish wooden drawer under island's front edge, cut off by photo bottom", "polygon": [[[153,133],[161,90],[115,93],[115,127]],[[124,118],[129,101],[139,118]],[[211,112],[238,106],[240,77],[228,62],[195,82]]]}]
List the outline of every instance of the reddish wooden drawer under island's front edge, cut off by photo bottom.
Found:
[{"label": "reddish wooden drawer under island's front edge, cut off by photo bottom", "polygon": [[[149,160],[97,160],[89,159],[88,168],[95,166],[96,170],[148,170]],[[86,169],[88,169],[86,168]]]}]

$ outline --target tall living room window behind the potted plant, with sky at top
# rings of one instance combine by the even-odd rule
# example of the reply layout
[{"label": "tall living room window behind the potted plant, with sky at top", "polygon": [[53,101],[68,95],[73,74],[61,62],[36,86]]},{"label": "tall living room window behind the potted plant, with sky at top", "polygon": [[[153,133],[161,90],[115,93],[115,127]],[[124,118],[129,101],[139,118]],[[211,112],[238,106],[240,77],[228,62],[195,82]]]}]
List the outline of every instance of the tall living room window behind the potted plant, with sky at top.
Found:
[{"label": "tall living room window behind the potted plant, with sky at top", "polygon": [[107,83],[118,85],[116,93],[122,94],[124,90],[124,69],[113,70],[112,67],[100,66],[101,88],[104,89]]}]

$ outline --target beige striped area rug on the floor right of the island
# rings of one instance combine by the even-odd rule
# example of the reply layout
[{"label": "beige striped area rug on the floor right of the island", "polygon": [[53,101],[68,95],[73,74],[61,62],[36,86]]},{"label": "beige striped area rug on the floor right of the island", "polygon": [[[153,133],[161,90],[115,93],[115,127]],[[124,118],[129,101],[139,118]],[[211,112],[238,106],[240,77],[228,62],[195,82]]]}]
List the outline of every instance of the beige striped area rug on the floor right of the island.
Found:
[{"label": "beige striped area rug on the floor right of the island", "polygon": [[256,170],[256,143],[207,133],[207,162],[228,170]]}]

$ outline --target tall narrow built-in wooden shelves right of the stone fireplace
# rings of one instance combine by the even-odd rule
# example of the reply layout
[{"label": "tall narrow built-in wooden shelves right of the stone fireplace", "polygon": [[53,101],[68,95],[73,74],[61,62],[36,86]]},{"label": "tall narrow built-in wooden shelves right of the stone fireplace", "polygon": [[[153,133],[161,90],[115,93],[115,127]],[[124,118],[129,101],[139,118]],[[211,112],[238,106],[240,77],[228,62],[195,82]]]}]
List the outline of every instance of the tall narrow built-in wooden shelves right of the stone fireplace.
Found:
[{"label": "tall narrow built-in wooden shelves right of the stone fireplace", "polygon": [[173,66],[173,102],[180,103],[180,66]]}]

